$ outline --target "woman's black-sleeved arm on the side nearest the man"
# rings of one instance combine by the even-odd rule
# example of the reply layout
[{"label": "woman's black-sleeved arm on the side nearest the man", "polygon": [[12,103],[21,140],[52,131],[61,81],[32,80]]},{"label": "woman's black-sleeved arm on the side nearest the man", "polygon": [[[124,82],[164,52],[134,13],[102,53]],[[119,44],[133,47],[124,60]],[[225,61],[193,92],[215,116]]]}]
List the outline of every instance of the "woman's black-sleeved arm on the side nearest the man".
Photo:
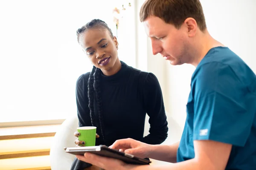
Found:
[{"label": "woman's black-sleeved arm on the side nearest the man", "polygon": [[150,129],[142,142],[161,144],[167,138],[167,120],[163,103],[163,95],[157,77],[148,73],[143,83],[143,104],[149,116]]}]

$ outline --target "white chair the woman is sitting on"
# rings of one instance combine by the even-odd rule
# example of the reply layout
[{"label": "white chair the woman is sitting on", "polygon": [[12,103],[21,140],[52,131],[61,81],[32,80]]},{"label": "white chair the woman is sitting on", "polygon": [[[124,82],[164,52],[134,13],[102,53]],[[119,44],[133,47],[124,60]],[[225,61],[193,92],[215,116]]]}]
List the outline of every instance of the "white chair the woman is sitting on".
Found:
[{"label": "white chair the woman is sitting on", "polygon": [[[166,113],[168,121],[168,138],[163,144],[172,144],[180,140],[182,134],[182,128],[177,124],[177,122]],[[144,135],[148,134],[149,126],[148,125],[148,116],[145,120],[145,132]],[[52,170],[70,170],[70,167],[75,159],[75,156],[69,153],[65,153],[64,147],[75,147],[76,144],[74,141],[77,139],[73,135],[76,132],[78,127],[78,118],[77,116],[72,116],[69,119],[66,119],[59,130],[56,132],[50,150],[50,163]],[[157,161],[152,159],[152,164],[168,164],[167,162]]]}]

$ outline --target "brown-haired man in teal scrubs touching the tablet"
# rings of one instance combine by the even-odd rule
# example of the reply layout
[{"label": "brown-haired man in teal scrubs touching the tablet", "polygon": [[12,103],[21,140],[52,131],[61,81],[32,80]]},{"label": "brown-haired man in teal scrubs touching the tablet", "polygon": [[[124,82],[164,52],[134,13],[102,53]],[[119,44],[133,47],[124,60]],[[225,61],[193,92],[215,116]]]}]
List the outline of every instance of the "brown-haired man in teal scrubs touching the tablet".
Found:
[{"label": "brown-haired man in teal scrubs touching the tablet", "polygon": [[140,20],[153,54],[172,65],[196,67],[179,143],[148,145],[133,139],[111,148],[174,164],[136,166],[92,154],[78,156],[105,170],[256,169],[256,75],[207,31],[199,0],[146,0]]}]

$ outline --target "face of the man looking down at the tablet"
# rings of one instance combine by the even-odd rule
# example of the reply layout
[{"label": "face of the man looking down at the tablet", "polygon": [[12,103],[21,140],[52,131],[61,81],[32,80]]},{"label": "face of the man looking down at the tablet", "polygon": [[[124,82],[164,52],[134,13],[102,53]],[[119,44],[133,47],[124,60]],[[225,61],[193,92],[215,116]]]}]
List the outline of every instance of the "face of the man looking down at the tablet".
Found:
[{"label": "face of the man looking down at the tablet", "polygon": [[189,48],[186,27],[181,26],[177,29],[155,16],[148,17],[143,24],[146,34],[151,39],[154,55],[160,53],[172,65],[186,63]]}]

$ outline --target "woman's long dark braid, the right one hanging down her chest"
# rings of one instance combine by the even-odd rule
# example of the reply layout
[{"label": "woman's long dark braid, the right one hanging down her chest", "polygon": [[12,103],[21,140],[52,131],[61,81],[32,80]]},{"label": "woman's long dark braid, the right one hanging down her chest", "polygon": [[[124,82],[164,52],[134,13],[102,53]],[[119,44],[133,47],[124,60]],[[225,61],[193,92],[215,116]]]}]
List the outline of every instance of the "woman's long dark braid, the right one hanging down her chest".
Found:
[{"label": "woman's long dark braid, the right one hanging down her chest", "polygon": [[103,123],[103,115],[102,115],[102,99],[101,99],[101,90],[100,90],[100,74],[101,71],[99,68],[96,68],[96,71],[94,73],[94,83],[93,83],[93,88],[96,93],[96,100],[98,104],[98,114],[99,114],[99,124],[100,124],[100,129],[102,133],[102,138],[105,141],[104,138],[104,123]]}]

